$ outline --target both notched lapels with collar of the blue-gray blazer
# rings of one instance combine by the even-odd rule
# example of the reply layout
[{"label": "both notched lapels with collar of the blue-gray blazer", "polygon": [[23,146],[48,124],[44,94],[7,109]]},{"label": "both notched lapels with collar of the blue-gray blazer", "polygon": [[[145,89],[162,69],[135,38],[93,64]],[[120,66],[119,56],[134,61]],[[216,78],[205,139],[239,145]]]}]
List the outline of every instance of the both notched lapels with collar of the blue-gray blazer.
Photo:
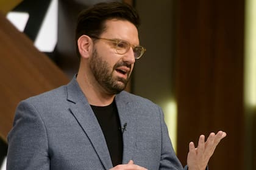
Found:
[{"label": "both notched lapels with collar of the blue-gray blazer", "polygon": [[[112,168],[112,161],[108,152],[107,143],[87,98],[79,87],[76,77],[67,85],[67,100],[72,102],[71,113],[76,117],[91,143],[105,169]],[[132,160],[133,149],[135,149],[136,117],[132,107],[132,100],[126,92],[121,92],[115,97],[121,127],[126,124],[123,131],[123,163]]]}]

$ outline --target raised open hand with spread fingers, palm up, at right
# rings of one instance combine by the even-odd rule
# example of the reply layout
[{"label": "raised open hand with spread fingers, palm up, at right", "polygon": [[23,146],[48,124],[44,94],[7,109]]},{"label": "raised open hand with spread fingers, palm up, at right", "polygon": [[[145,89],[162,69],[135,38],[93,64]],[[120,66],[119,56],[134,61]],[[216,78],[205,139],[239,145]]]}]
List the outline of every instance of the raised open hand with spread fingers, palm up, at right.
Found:
[{"label": "raised open hand with spread fingers, palm up, at right", "polygon": [[195,148],[193,141],[190,142],[187,157],[189,170],[205,170],[210,157],[212,157],[216,146],[222,138],[226,137],[226,132],[219,131],[216,135],[211,133],[205,142],[205,136],[199,137],[198,146]]}]

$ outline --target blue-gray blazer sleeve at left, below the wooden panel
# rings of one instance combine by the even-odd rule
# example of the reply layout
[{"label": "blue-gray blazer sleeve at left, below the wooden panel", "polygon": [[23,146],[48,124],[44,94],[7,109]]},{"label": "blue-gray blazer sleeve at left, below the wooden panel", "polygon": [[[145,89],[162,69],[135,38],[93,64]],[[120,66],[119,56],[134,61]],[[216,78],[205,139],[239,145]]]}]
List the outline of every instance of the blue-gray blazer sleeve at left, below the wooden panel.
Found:
[{"label": "blue-gray blazer sleeve at left, below the wooden panel", "polygon": [[9,132],[7,170],[50,169],[46,128],[32,104],[22,101]]}]

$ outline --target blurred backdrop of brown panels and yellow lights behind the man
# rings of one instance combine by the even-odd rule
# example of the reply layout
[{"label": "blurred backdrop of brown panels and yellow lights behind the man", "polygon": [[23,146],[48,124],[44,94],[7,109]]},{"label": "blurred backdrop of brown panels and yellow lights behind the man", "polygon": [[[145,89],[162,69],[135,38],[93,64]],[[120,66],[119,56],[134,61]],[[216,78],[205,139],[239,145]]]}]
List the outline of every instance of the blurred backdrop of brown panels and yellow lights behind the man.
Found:
[{"label": "blurred backdrop of brown panels and yellow lights behind the man", "polygon": [[[77,14],[102,1],[0,0],[2,169],[18,102],[71,80]],[[256,1],[124,2],[147,49],[126,90],[163,108],[182,164],[190,141],[223,130],[210,169],[256,169]]]}]

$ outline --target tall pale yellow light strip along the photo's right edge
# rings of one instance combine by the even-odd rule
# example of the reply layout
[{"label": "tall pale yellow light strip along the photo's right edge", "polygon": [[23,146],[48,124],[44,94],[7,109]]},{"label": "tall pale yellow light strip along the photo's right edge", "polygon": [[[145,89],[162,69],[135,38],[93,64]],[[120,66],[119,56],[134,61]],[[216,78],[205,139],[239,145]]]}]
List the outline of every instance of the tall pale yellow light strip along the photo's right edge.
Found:
[{"label": "tall pale yellow light strip along the photo's right edge", "polygon": [[246,1],[244,100],[246,106],[256,106],[256,1]]}]

